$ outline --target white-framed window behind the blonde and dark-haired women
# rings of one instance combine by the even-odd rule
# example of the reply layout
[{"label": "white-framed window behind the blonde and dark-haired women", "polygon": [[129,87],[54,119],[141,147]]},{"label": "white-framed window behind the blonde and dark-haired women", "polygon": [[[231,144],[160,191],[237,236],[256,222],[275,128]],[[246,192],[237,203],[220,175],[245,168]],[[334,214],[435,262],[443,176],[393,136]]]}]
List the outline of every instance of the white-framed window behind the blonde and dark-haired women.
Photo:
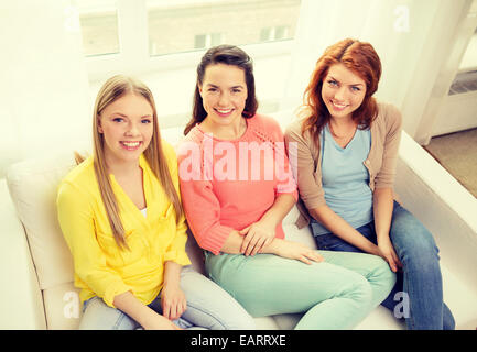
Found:
[{"label": "white-framed window behind the blonde and dark-haired women", "polygon": [[113,72],[195,65],[202,51],[225,43],[263,44],[248,50],[254,58],[290,53],[286,40],[294,36],[301,7],[301,0],[71,1],[79,12],[93,80]]}]

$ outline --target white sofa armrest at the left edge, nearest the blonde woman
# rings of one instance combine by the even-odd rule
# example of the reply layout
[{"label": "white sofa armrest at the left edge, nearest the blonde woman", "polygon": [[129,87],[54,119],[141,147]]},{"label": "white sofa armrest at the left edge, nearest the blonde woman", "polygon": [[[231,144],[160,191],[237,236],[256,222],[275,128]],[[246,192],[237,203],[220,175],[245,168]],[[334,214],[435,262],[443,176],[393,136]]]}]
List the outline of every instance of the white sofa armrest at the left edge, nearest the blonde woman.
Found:
[{"label": "white sofa armrest at the left edge, nearest the blonde woman", "polygon": [[0,329],[46,329],[43,297],[23,226],[0,179]]}]

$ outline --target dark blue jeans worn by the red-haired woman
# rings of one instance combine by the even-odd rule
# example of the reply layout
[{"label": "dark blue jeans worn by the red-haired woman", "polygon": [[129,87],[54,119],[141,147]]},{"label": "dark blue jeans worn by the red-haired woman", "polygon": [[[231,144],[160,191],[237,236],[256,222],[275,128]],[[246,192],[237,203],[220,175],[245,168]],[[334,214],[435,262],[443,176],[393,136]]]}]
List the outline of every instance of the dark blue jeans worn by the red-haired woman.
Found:
[{"label": "dark blue jeans worn by the red-haired woman", "polygon": [[[314,229],[313,219],[311,227]],[[377,244],[375,222],[358,229]],[[408,210],[394,201],[389,237],[402,263],[397,283],[382,306],[404,318],[412,330],[453,330],[454,317],[443,302],[442,275],[438,249],[426,228]],[[333,233],[315,235],[318,249],[344,252],[362,252]]]}]

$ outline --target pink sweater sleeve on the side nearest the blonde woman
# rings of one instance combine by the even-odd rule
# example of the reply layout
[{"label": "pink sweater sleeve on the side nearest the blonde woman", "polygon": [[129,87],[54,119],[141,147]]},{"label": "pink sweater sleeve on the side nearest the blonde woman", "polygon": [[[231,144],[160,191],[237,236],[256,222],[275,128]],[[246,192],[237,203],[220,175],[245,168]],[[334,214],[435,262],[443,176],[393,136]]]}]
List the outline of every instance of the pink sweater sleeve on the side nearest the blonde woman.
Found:
[{"label": "pink sweater sleeve on the side nearest the blonde woman", "polygon": [[[219,254],[232,228],[220,223],[220,204],[214,194],[212,182],[204,174],[198,144],[186,142],[178,150],[178,179],[185,215],[197,244]],[[188,153],[188,152],[192,153]],[[197,157],[194,160],[194,155]],[[192,167],[192,173],[187,168]]]}]

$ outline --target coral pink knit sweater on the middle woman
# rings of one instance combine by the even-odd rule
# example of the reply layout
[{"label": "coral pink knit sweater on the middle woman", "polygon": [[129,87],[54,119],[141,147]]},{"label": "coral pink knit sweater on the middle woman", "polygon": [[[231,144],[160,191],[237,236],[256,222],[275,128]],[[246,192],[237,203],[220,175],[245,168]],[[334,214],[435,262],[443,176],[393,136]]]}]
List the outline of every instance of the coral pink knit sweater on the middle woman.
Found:
[{"label": "coral pink knit sweater on the middle woman", "polygon": [[[195,125],[177,153],[182,200],[188,226],[205,250],[219,254],[232,230],[260,220],[279,194],[297,199],[283,133],[271,118],[256,114],[247,131],[225,141]],[[275,237],[283,239],[279,223]]]}]

